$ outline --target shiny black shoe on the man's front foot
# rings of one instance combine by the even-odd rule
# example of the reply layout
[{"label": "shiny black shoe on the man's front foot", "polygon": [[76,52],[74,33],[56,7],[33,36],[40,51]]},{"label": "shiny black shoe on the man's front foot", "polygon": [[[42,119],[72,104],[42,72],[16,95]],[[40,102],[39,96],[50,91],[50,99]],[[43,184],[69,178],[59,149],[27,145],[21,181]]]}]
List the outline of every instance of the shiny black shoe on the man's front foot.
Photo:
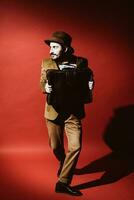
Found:
[{"label": "shiny black shoe on the man's front foot", "polygon": [[71,186],[58,181],[56,183],[55,192],[66,193],[72,196],[81,196],[82,193],[79,190],[73,189]]}]

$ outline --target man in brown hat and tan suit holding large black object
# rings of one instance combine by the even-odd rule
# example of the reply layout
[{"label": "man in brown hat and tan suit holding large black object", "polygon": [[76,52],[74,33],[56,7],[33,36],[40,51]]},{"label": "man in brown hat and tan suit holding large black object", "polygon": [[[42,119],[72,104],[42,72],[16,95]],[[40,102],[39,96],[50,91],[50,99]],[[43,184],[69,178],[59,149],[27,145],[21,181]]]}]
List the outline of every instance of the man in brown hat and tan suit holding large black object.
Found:
[{"label": "man in brown hat and tan suit holding large black object", "polygon": [[[50,58],[42,61],[40,84],[43,93],[47,94],[44,115],[49,144],[59,161],[55,192],[80,196],[82,193],[70,186],[81,150],[81,119],[85,116],[84,102],[80,100],[83,97],[78,97],[80,91],[83,92],[81,85],[85,80],[84,78],[82,81],[80,74],[86,72],[85,77],[88,77],[86,92],[90,95],[93,89],[93,74],[88,68],[87,60],[73,54],[71,42],[71,36],[62,31],[54,32],[50,39],[45,40],[50,47]],[[51,78],[51,81],[49,80],[51,73],[48,72],[53,73],[52,77],[55,77]],[[58,93],[59,91],[62,92]],[[63,144],[64,129],[68,141],[66,153]]]}]

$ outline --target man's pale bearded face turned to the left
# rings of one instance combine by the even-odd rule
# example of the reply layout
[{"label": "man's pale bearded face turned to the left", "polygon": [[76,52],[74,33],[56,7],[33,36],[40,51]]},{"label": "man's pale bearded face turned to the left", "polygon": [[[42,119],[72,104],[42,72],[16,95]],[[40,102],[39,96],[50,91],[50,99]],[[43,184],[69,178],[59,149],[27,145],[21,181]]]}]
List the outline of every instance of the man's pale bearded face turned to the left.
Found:
[{"label": "man's pale bearded face turned to the left", "polygon": [[50,42],[50,56],[53,60],[59,58],[62,54],[62,46],[56,42]]}]

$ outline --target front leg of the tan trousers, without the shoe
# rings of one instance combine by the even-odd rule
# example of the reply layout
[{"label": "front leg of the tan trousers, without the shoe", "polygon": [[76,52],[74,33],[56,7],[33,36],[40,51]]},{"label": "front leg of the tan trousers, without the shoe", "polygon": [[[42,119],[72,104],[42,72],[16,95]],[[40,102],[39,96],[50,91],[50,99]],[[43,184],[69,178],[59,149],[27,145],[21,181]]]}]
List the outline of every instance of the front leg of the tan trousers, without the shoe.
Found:
[{"label": "front leg of the tan trousers, without the shoe", "polygon": [[70,184],[77,164],[82,143],[82,126],[81,121],[74,115],[71,115],[65,121],[65,131],[68,140],[68,151],[64,160],[59,181]]}]

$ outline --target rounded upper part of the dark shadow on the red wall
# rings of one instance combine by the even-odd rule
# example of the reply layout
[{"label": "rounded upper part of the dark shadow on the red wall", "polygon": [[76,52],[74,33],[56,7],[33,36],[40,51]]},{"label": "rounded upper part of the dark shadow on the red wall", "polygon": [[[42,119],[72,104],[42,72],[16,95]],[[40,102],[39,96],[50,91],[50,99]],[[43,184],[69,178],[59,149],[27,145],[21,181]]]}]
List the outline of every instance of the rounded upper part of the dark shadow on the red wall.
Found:
[{"label": "rounded upper part of the dark shadow on the red wall", "polygon": [[104,141],[112,151],[122,156],[134,155],[134,105],[120,107],[104,132]]}]

